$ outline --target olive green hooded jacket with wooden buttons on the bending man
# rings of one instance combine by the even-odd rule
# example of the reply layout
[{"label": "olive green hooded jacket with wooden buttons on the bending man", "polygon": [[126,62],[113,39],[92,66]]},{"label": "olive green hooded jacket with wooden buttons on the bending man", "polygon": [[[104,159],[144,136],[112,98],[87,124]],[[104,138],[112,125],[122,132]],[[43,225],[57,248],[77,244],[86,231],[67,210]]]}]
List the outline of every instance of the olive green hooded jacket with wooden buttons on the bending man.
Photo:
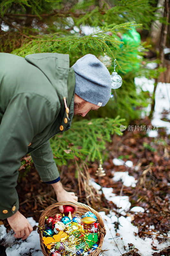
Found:
[{"label": "olive green hooded jacket with wooden buttons on the bending man", "polygon": [[31,153],[42,181],[59,177],[49,139],[70,129],[74,88],[68,54],[0,53],[0,219],[18,210],[21,157]]}]

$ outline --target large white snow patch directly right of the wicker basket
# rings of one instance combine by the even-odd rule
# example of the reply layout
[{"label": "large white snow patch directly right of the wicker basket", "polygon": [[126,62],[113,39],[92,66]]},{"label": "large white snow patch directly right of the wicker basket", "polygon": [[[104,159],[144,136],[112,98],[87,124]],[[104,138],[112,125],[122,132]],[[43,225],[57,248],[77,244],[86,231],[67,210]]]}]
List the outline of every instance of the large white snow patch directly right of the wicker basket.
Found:
[{"label": "large white snow patch directly right of the wicker basket", "polygon": [[[141,256],[151,256],[156,252],[152,249],[152,245],[156,246],[158,250],[169,246],[169,242],[159,244],[154,235],[152,238],[146,237],[144,240],[138,235],[138,228],[131,223],[131,217],[121,216],[119,219],[115,216],[114,212],[110,211],[110,214],[105,215],[105,212],[99,212],[104,221],[106,228],[106,236],[104,238],[102,250],[104,251],[102,256],[120,256],[125,252],[129,252],[129,245],[133,244],[134,248],[138,249],[138,253]],[[115,231],[114,222],[119,221],[119,228]],[[116,246],[117,244],[117,246]],[[124,249],[125,246],[125,249]]]}]

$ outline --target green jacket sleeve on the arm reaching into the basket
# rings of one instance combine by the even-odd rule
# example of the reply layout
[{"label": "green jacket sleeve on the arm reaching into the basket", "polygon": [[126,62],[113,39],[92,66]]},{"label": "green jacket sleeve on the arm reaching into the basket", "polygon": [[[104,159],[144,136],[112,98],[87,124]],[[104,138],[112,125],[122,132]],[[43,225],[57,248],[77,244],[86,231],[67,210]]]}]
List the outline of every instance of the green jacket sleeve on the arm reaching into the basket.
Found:
[{"label": "green jacket sleeve on the arm reaching into the basket", "polygon": [[50,181],[54,180],[57,182],[60,180],[60,175],[53,159],[53,153],[49,140],[40,148],[37,148],[31,152],[31,156],[42,181],[51,184],[53,182]]}]

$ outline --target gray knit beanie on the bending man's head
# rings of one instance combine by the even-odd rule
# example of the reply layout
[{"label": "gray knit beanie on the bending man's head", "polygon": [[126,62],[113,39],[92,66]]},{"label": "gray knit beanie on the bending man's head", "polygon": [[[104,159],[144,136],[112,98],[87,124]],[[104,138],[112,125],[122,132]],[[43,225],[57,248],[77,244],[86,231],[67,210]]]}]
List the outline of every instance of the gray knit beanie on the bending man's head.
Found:
[{"label": "gray knit beanie on the bending man's head", "polygon": [[97,106],[105,106],[111,94],[111,76],[105,65],[93,54],[86,54],[72,66],[75,71],[75,93]]}]

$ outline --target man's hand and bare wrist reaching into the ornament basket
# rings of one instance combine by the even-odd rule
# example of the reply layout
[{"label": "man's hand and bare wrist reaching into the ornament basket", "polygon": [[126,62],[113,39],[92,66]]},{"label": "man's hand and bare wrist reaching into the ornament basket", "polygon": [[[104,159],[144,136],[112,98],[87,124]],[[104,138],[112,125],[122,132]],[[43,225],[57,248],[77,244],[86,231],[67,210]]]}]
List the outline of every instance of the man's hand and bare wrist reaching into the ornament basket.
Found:
[{"label": "man's hand and bare wrist reaching into the ornament basket", "polygon": [[[57,201],[58,202],[63,202],[63,201],[70,201],[70,202],[78,202],[78,197],[75,196],[74,192],[67,192],[60,181],[51,184],[55,190],[55,194],[57,196]],[[77,212],[78,207],[74,206],[75,211]],[[63,212],[63,206],[59,206],[60,212]]]}]

